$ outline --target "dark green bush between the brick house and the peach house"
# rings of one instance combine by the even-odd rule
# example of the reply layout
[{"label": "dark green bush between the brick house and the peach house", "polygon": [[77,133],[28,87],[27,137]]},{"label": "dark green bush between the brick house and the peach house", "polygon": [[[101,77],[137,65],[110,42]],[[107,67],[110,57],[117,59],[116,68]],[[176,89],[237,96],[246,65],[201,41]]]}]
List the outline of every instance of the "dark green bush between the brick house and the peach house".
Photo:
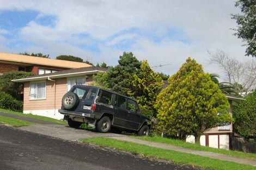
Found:
[{"label": "dark green bush between the brick house and the peach house", "polygon": [[26,78],[28,76],[34,75],[31,72],[24,71],[11,71],[0,75],[0,89],[9,93],[11,96],[17,100],[22,100],[23,83],[14,83],[11,80]]}]

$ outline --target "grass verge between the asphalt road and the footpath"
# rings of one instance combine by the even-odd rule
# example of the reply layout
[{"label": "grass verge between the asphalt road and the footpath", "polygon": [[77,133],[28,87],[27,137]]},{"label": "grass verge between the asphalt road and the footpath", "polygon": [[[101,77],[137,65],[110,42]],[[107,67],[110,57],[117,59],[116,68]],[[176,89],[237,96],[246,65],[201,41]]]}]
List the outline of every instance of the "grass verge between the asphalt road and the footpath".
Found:
[{"label": "grass verge between the asphalt road and the footpath", "polygon": [[185,163],[192,166],[200,166],[202,168],[210,168],[217,170],[238,170],[238,169],[256,169],[256,167],[244,165],[236,162],[222,161],[217,159],[206,158],[204,156],[176,152],[173,150],[149,147],[144,144],[133,142],[119,141],[106,137],[88,138],[81,141],[99,144],[100,146],[108,146],[121,150],[126,150],[133,154],[143,154],[154,156],[160,159],[166,159],[175,163]]}]

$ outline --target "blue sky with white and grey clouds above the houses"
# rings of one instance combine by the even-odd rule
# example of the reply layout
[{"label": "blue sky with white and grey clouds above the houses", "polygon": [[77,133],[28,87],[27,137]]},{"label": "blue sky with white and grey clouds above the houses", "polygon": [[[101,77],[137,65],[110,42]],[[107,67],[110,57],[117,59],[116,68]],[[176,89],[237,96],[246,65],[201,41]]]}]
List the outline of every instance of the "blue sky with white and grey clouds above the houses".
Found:
[{"label": "blue sky with white and grey clouds above the houses", "polygon": [[[230,0],[0,0],[0,52],[79,56],[117,65],[123,52],[148,60],[157,72],[179,70],[188,56],[210,73],[210,52],[247,59],[233,34]],[[162,67],[154,67],[166,65]]]}]

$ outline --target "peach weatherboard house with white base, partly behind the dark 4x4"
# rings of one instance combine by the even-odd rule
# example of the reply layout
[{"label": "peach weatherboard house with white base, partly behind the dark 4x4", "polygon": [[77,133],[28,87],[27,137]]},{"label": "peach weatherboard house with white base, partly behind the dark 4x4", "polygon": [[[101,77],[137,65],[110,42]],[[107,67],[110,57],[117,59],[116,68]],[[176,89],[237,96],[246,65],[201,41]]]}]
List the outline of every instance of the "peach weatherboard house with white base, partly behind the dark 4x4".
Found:
[{"label": "peach weatherboard house with white base, partly behind the dark 4x4", "polygon": [[23,113],[62,119],[62,97],[73,85],[89,85],[101,67],[82,67],[13,80],[24,83]]}]

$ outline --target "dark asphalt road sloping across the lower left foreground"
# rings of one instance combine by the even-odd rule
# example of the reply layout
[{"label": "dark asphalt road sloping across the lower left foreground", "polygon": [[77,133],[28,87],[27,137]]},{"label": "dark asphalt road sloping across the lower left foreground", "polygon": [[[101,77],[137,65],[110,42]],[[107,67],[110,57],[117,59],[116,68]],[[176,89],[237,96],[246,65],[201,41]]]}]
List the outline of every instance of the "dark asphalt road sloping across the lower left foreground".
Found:
[{"label": "dark asphalt road sloping across the lower left foreground", "polygon": [[0,124],[0,169],[193,169]]}]

